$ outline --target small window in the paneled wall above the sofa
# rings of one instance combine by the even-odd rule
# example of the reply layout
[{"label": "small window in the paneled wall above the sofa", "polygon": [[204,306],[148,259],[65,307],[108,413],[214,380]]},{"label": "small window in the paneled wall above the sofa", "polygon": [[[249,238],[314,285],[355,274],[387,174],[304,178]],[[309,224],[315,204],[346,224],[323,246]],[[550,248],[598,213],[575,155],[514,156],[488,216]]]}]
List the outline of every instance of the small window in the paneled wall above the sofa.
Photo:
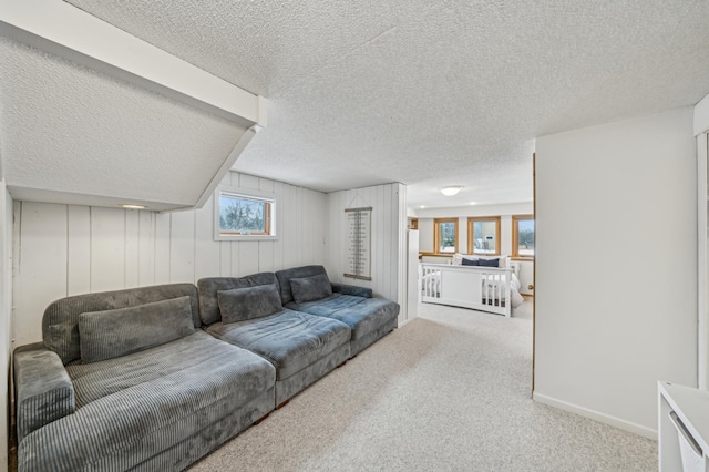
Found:
[{"label": "small window in the paneled wall above the sofa", "polygon": [[230,188],[217,191],[215,239],[275,238],[276,199],[260,192],[247,192]]}]

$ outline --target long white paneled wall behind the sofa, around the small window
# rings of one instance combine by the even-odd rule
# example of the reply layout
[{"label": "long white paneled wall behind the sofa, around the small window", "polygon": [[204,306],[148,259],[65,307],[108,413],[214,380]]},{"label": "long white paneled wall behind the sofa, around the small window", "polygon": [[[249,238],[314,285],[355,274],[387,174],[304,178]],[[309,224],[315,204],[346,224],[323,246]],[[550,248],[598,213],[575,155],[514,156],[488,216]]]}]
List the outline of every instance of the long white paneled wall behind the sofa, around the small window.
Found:
[{"label": "long white paneled wall behind the sofa, around the small window", "polygon": [[214,198],[175,213],[16,202],[16,346],[41,340],[58,298],[325,264],[325,194],[234,172],[222,184],[276,194],[278,238],[215,242]]}]

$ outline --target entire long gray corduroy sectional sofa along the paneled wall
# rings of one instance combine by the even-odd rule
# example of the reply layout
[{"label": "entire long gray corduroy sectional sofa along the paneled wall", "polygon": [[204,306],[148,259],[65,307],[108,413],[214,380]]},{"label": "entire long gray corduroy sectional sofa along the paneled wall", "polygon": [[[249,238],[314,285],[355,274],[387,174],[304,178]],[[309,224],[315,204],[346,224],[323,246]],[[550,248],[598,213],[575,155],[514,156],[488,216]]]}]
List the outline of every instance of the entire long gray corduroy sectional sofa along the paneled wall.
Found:
[{"label": "entire long gray corduroy sectional sofa along the paneled wall", "polygon": [[19,471],[183,470],[397,327],[395,302],[322,276],[51,304],[13,355]]}]

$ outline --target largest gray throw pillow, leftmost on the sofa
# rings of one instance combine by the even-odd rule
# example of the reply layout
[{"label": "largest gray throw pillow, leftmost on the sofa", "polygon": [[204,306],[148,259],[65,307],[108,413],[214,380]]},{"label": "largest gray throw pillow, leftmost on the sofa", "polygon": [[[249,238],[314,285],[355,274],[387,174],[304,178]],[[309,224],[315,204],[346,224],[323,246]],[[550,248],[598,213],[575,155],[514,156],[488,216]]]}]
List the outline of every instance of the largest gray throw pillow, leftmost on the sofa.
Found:
[{"label": "largest gray throw pillow, leftmost on the sofa", "polygon": [[189,297],[79,315],[84,363],[154,348],[195,332]]}]

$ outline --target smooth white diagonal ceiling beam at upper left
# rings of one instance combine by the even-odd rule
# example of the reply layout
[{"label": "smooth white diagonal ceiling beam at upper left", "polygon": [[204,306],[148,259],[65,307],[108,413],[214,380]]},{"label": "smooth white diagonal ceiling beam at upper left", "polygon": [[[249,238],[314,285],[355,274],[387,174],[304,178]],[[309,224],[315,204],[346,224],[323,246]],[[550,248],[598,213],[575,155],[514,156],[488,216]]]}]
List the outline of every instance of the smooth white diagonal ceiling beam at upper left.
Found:
[{"label": "smooth white diagonal ceiling beam at upper left", "polygon": [[0,35],[209,113],[266,125],[263,98],[62,0],[0,0]]}]

